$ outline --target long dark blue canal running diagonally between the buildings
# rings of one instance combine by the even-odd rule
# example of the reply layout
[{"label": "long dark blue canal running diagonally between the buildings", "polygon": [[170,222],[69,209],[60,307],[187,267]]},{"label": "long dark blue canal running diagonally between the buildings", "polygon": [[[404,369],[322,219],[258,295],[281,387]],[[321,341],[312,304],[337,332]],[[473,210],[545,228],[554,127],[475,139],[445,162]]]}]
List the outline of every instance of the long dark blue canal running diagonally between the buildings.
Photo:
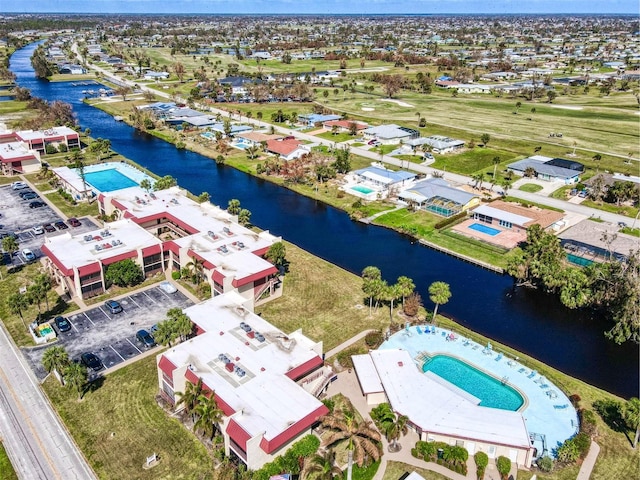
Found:
[{"label": "long dark blue canal running diagonally between the buildings", "polygon": [[[352,222],[332,207],[298,195],[202,155],[136,131],[110,115],[82,103],[82,87],[49,83],[34,76],[30,57],[36,45],[11,57],[10,69],[20,86],[46,100],[73,106],[83,129],[111,140],[112,148],[157,175],[171,175],[181,187],[212,202],[232,198],[252,212],[251,221],[351,272],[375,265],[386,280],[413,279],[427,307],[434,281],[447,282],[452,298],[440,310],[461,324],[532,355],[590,384],[626,397],[638,395],[637,345],[618,346],[606,340],[605,325],[591,313],[564,308],[553,297],[513,288],[508,276],[415,244],[406,236]],[[348,318],[345,316],[345,321]],[[571,392],[568,392],[571,393]]]}]

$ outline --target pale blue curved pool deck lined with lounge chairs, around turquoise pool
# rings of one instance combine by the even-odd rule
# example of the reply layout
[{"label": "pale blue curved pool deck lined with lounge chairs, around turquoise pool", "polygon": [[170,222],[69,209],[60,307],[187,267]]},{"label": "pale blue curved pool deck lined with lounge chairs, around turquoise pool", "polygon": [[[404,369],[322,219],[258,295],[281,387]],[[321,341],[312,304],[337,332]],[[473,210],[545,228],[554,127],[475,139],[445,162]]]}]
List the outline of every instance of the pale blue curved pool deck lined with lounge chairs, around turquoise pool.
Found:
[{"label": "pale blue curved pool deck lined with lounge chairs, around turquoise pool", "polygon": [[533,437],[538,455],[545,448],[549,454],[553,454],[556,447],[577,433],[578,416],[575,409],[568,397],[547,379],[493,348],[486,348],[458,335],[455,340],[447,340],[452,333],[450,330],[435,330],[435,334],[419,333],[424,332],[423,326],[409,327],[392,335],[380,349],[407,351],[419,369],[422,369],[425,355],[450,355],[517,389],[525,398],[525,404],[519,412]]}]

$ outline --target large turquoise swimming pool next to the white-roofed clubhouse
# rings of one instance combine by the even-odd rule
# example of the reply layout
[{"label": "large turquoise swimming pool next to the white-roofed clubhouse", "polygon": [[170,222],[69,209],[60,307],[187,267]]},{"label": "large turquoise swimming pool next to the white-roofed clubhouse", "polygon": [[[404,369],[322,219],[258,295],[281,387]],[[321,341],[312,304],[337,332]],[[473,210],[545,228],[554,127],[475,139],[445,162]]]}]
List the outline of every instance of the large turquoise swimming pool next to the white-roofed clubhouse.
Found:
[{"label": "large turquoise swimming pool next to the white-roofed clubhouse", "polygon": [[436,355],[422,366],[423,372],[433,372],[449,383],[480,399],[483,407],[517,411],[522,396],[509,385],[477,370],[468,363],[448,355]]}]

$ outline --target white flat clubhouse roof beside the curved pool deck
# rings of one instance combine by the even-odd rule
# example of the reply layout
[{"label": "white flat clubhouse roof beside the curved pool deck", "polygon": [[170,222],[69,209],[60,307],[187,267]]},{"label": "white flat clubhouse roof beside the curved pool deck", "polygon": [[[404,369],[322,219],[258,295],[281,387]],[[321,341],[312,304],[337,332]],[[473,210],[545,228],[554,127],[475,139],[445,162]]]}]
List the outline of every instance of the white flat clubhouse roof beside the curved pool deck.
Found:
[{"label": "white flat clubhouse roof beside the curved pool deck", "polygon": [[522,414],[475,405],[424,375],[405,350],[369,352],[393,410],[425,432],[519,448],[531,446]]}]

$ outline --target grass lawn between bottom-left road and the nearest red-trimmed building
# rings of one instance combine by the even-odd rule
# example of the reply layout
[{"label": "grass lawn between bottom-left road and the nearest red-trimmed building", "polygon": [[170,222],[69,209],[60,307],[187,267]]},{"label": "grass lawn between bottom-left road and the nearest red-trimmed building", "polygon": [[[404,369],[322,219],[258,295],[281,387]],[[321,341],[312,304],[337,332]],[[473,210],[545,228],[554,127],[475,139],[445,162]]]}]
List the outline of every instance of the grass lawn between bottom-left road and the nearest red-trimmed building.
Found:
[{"label": "grass lawn between bottom-left road and the nearest red-trimmed building", "polygon": [[[117,370],[78,401],[49,377],[43,388],[101,479],[211,479],[212,460],[182,424],[158,406],[155,356]],[[142,468],[151,454],[160,458]]]}]

